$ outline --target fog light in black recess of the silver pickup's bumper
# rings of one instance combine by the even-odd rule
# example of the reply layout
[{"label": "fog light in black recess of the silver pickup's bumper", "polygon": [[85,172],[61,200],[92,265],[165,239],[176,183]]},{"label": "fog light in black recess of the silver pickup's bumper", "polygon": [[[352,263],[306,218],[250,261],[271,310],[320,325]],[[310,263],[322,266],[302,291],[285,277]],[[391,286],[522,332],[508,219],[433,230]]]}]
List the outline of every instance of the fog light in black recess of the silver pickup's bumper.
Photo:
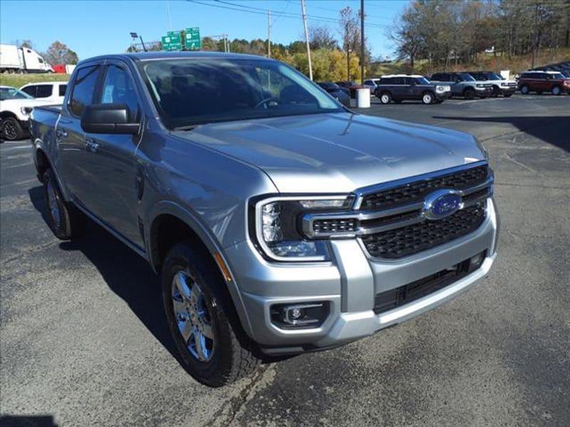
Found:
[{"label": "fog light in black recess of the silver pickup's bumper", "polygon": [[319,327],[327,315],[326,302],[279,304],[271,307],[271,322],[279,327]]}]

